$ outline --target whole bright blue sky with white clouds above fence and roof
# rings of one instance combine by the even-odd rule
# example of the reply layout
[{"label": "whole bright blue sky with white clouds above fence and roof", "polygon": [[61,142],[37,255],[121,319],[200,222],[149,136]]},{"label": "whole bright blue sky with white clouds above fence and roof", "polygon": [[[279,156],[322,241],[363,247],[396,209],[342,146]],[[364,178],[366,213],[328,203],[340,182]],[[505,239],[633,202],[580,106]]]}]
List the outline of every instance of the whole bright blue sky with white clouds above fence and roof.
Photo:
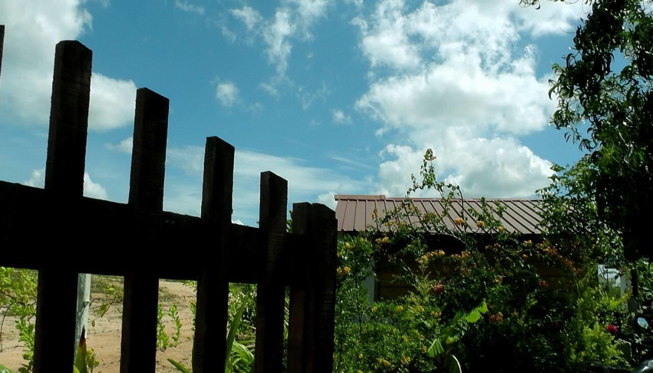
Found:
[{"label": "whole bright blue sky with white clouds above fence and roof", "polygon": [[289,203],[402,196],[425,149],[466,196],[530,197],[577,147],[549,127],[550,66],[582,1],[3,0],[0,180],[40,186],[54,46],[93,50],[86,196],[125,202],[135,90],[170,98],[164,207],[199,215],[206,136],[236,147],[234,220],[259,173]]}]

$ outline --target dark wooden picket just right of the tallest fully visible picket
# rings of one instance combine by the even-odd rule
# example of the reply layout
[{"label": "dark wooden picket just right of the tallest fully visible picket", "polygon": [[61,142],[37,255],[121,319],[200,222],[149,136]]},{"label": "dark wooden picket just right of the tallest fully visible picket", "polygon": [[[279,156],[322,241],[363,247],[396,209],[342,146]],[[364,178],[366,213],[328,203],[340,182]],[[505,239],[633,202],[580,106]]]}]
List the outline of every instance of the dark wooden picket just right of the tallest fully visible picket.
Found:
[{"label": "dark wooden picket just right of the tallest fully visible picket", "polygon": [[[156,255],[163,215],[163,182],[170,101],[150,89],[136,91],[134,140],[129,180],[129,205],[133,209],[136,239],[133,258],[126,264],[123,299],[121,373],[153,373],[156,365],[159,278],[143,267]],[[138,261],[140,265],[138,265]]]}]

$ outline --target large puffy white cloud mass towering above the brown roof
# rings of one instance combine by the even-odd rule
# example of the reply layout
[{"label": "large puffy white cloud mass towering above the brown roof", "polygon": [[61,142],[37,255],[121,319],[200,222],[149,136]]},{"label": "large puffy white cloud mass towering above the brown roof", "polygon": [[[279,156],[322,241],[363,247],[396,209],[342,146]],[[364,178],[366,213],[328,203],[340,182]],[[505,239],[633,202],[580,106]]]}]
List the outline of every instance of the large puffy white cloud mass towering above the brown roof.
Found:
[{"label": "large puffy white cloud mass towering above the brown roof", "polygon": [[378,121],[377,134],[403,139],[383,151],[379,190],[404,194],[427,147],[439,177],[469,196],[531,196],[547,185],[550,163],[518,136],[545,128],[555,105],[535,74],[535,47],[520,40],[571,28],[584,14],[578,3],[538,14],[509,0],[385,0],[355,18],[371,78],[356,108]]}]

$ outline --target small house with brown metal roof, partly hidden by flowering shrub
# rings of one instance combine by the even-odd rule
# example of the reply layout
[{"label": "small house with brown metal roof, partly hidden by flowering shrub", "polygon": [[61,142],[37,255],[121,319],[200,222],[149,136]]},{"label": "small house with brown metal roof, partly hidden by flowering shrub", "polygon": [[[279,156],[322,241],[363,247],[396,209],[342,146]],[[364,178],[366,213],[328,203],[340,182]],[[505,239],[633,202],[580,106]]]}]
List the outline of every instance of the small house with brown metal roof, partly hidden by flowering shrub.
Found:
[{"label": "small house with brown metal roof, partly hidden by flowering shrub", "polygon": [[[338,237],[343,235],[355,235],[360,231],[366,230],[368,226],[374,226],[375,220],[373,213],[376,210],[379,216],[384,216],[385,211],[392,211],[400,206],[406,198],[390,198],[384,195],[366,196],[366,195],[344,195],[336,194],[336,218],[338,219]],[[443,213],[444,206],[441,198],[410,198],[413,204],[424,213]],[[505,230],[513,233],[520,233],[524,241],[530,240],[534,243],[541,241],[542,231],[539,229],[541,216],[539,215],[540,200],[520,199],[520,198],[486,198],[490,206],[494,202],[500,202],[505,206],[502,216],[496,216],[500,219]],[[448,219],[444,220],[447,227],[456,230],[460,229],[454,223],[456,218],[462,218],[460,211],[468,209],[481,211],[481,200],[479,198],[469,198],[465,200],[454,200],[452,208],[448,211]],[[476,226],[476,220],[469,213],[465,213],[464,218],[468,220],[471,227]],[[420,224],[417,217],[410,217],[411,224]],[[385,227],[379,227],[380,230],[387,230]],[[477,233],[488,234],[488,233]],[[429,246],[434,248],[441,246],[447,247],[453,252],[463,250],[464,247],[460,241],[452,236],[434,235]],[[538,273],[550,280],[552,283],[560,282],[562,278],[567,277],[564,273],[556,271],[544,265],[536,265]],[[370,301],[378,299],[392,299],[399,295],[405,294],[410,288],[406,284],[396,282],[394,276],[396,271],[392,266],[379,263],[376,269],[377,278],[368,278],[366,288]]]}]

